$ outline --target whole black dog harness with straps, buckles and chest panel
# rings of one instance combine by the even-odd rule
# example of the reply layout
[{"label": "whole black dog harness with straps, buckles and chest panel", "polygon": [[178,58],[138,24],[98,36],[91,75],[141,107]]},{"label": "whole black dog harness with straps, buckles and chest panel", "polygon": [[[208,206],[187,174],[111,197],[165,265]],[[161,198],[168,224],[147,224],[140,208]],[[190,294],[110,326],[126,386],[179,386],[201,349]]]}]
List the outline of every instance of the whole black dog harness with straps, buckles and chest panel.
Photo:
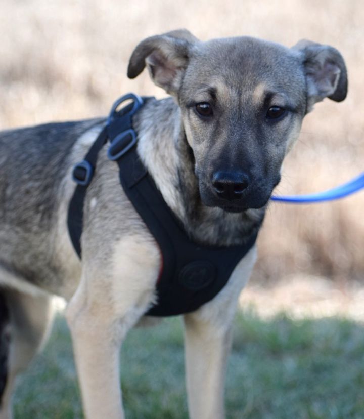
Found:
[{"label": "whole black dog harness with straps, buckles and chest panel", "polygon": [[[117,111],[127,99],[133,103]],[[115,102],[105,128],[84,159],[75,165],[73,180],[77,187],[69,205],[68,230],[81,257],[84,198],[98,153],[109,140],[107,155],[118,164],[125,194],[154,236],[162,255],[162,271],[156,285],[158,302],[146,314],[172,316],[194,311],[212,300],[254,245],[257,232],[246,244],[229,247],[201,245],[189,238],[136,152],[137,135],[132,128],[132,116],[146,100],[129,94]]]}]

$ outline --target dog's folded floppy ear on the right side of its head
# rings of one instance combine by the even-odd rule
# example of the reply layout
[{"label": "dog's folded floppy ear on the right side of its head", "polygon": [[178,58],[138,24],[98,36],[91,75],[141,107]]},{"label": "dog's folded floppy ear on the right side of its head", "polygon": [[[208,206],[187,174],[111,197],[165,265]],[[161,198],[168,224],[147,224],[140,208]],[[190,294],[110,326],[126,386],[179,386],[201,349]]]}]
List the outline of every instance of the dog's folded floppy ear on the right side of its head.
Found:
[{"label": "dog's folded floppy ear on the right side of its head", "polygon": [[324,98],[341,102],[347,94],[344,59],[335,48],[302,39],[293,47],[301,52],[306,72],[307,111]]}]

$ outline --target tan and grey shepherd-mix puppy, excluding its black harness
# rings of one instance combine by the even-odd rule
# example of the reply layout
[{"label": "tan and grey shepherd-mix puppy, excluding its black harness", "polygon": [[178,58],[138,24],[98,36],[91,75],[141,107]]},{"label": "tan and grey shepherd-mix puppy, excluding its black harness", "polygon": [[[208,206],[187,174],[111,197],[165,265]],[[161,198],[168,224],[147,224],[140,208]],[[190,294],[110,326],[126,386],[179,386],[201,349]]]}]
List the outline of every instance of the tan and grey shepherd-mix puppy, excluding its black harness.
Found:
[{"label": "tan and grey shepherd-mix puppy, excluding its black harness", "polygon": [[[202,42],[176,30],[135,48],[128,76],[145,67],[171,97],[150,99],[134,115],[138,154],[187,234],[212,246],[245,243],[260,227],[303,117],[315,102],[340,102],[347,92],[340,53],[307,40],[289,49],[251,37]],[[72,168],[104,125],[0,134],[2,419],[12,416],[16,375],[47,336],[54,295],[68,302],[85,416],[124,417],[119,348],[155,303],[161,255],[106,149],[84,201],[81,261],[72,247]],[[232,321],[255,259],[253,246],[219,294],[183,317],[191,418],[224,417]]]}]

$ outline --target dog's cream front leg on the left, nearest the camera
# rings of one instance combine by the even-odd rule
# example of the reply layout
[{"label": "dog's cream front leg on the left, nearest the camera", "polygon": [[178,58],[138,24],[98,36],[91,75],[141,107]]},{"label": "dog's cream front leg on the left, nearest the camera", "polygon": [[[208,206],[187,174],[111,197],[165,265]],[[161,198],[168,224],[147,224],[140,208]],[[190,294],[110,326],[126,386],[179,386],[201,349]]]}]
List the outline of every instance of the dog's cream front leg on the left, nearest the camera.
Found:
[{"label": "dog's cream front leg on the left, nearest the camera", "polygon": [[159,270],[158,249],[145,238],[130,236],[115,247],[107,263],[85,257],[66,311],[87,419],[124,418],[119,349],[151,304]]}]

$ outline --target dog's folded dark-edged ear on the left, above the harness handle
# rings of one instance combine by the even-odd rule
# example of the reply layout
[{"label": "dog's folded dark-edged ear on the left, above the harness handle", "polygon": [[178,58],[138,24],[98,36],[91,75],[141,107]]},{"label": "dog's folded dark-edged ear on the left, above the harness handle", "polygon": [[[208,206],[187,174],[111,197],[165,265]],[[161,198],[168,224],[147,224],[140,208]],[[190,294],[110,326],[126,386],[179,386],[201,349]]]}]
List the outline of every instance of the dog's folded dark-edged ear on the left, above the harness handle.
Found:
[{"label": "dog's folded dark-edged ear on the left, above the harness handle", "polygon": [[186,29],[144,39],[133,51],[127,75],[135,78],[147,66],[154,83],[167,93],[176,93],[188,66],[191,47],[199,40]]}]

